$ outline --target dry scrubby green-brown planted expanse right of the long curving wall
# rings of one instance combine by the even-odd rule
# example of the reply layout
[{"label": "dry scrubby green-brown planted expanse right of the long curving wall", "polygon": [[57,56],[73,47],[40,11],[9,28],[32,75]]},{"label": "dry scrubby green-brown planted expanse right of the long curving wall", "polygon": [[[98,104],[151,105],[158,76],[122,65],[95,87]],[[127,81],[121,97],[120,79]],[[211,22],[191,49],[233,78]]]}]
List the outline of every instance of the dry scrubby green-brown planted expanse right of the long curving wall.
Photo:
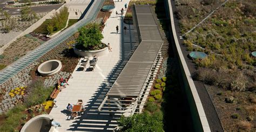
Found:
[{"label": "dry scrubby green-brown planted expanse right of the long curving wall", "polygon": [[[181,33],[223,2],[177,0]],[[194,60],[193,78],[207,84],[225,131],[256,130],[256,58],[251,55],[256,50],[255,17],[255,1],[228,1],[184,36],[187,50],[208,54],[204,60]]]}]

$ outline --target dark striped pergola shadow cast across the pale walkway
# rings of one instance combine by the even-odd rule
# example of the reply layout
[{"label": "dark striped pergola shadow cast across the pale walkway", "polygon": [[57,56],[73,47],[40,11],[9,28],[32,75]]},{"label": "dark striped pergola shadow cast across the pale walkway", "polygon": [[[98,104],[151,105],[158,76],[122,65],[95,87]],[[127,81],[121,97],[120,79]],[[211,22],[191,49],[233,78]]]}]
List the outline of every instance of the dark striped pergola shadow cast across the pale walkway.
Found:
[{"label": "dark striped pergola shadow cast across the pale walkway", "polygon": [[[121,18],[121,17],[120,17]],[[122,19],[122,20],[121,20]],[[120,19],[120,31],[121,35],[119,38],[119,60],[114,65],[113,69],[106,76],[102,84],[98,87],[95,94],[87,105],[85,106],[85,111],[82,116],[77,118],[78,120],[74,121],[73,124],[68,130],[76,131],[111,131],[117,126],[117,119],[120,117],[120,114],[110,114],[107,112],[98,111],[99,105],[102,103],[103,99],[106,96],[106,93],[110,90],[111,85],[117,79],[116,73],[124,68],[124,65],[127,63],[129,58],[132,55],[133,49],[136,48],[139,44],[139,38],[137,33],[137,28],[133,25],[126,25],[123,23],[123,18]],[[124,25],[128,28],[126,34],[124,34],[123,27]],[[117,52],[117,51],[113,51]]]}]

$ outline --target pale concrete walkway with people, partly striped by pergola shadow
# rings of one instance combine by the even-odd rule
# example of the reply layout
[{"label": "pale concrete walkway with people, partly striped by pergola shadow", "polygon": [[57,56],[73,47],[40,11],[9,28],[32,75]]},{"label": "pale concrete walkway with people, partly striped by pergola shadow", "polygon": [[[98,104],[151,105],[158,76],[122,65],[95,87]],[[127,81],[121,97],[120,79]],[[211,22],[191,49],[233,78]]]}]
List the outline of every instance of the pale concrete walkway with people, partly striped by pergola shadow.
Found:
[{"label": "pale concrete walkway with people, partly striped by pergola shadow", "polygon": [[[128,4],[129,0],[116,2],[116,10],[120,12],[125,3]],[[80,71],[77,65],[72,73],[73,78],[69,79],[69,85],[55,99],[58,107],[53,108],[50,115],[62,125],[57,130],[107,131],[117,126],[116,120],[119,115],[111,116],[109,113],[98,112],[97,108],[109,90],[109,84],[113,84],[116,78],[114,74],[120,72],[130,58],[131,50],[139,43],[136,28],[133,25],[125,25],[122,19],[120,14],[116,17],[116,14],[112,13],[103,31],[102,41],[110,43],[112,52],[98,57],[95,71]],[[116,33],[117,25],[119,33]],[[124,25],[128,28],[126,34],[122,30]],[[78,99],[83,100],[85,113],[77,119],[70,120],[66,106],[68,103],[76,104]]]}]

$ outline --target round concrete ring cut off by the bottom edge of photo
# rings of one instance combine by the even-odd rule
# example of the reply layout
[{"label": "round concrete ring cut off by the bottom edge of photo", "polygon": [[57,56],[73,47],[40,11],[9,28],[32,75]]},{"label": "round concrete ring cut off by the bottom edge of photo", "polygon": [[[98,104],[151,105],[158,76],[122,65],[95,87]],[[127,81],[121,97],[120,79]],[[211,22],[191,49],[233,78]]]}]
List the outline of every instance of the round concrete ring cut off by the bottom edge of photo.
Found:
[{"label": "round concrete ring cut off by the bottom edge of photo", "polygon": [[51,131],[51,119],[48,114],[38,115],[26,122],[21,132]]}]

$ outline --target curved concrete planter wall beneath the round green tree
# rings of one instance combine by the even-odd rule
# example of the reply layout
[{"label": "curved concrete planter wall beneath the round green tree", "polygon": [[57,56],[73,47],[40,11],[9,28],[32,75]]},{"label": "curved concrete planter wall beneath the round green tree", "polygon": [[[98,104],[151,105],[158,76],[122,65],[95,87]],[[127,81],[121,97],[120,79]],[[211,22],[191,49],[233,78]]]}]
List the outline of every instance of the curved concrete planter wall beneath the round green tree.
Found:
[{"label": "curved concrete planter wall beneath the round green tree", "polygon": [[107,47],[99,50],[79,50],[79,49],[76,49],[75,47],[73,49],[78,56],[83,56],[83,57],[84,56],[93,57],[95,55],[103,56],[109,53],[109,50],[107,50],[108,49]]}]

